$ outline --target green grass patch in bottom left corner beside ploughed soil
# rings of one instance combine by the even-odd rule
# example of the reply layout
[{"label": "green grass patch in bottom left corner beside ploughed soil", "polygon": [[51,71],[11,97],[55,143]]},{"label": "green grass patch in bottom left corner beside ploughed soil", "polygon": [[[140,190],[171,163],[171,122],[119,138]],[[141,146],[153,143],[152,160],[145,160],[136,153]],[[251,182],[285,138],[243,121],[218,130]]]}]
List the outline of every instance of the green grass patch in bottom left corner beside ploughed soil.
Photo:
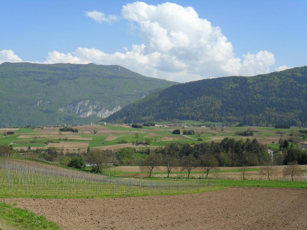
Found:
[{"label": "green grass patch in bottom left corner beside ploughed soil", "polygon": [[48,221],[43,216],[36,216],[32,212],[6,203],[0,203],[0,218],[22,230],[60,229],[56,223]]}]

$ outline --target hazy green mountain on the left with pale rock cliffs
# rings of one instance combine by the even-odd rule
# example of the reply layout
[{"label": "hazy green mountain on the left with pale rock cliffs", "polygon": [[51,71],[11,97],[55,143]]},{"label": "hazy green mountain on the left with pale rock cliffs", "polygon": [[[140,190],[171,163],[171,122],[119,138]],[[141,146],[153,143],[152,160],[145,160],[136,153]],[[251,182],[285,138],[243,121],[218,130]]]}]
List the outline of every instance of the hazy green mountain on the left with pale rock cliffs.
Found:
[{"label": "hazy green mountain on the left with pale rock cliffs", "polygon": [[99,121],[177,84],[93,63],[2,63],[0,82],[0,127]]}]

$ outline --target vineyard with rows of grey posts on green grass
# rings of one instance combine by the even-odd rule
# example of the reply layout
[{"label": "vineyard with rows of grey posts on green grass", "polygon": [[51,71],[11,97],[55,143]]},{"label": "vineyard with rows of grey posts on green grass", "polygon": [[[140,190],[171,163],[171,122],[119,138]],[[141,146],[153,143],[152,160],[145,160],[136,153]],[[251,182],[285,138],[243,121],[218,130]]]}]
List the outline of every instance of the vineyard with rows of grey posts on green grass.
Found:
[{"label": "vineyard with rows of grey posts on green grass", "polygon": [[215,180],[153,181],[94,174],[54,165],[0,160],[2,197],[107,197],[184,194],[220,188]]}]

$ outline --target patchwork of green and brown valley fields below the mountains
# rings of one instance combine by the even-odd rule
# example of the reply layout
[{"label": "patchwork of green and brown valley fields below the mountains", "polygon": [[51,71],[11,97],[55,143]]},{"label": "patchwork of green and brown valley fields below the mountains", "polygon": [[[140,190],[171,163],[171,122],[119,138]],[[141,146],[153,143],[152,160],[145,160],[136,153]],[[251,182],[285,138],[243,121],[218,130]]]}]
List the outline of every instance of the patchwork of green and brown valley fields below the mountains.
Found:
[{"label": "patchwork of green and brown valley fields below the mountains", "polygon": [[[192,123],[192,121],[186,121]],[[163,123],[163,122],[160,122]],[[210,126],[210,124],[208,124]],[[225,137],[236,140],[256,138],[260,143],[267,144],[268,148],[276,150],[281,136],[289,137],[290,129],[276,129],[273,127],[225,127],[211,129],[210,127],[143,127],[131,128],[128,125],[82,125],[76,126],[79,132],[59,132],[59,128],[29,129],[29,128],[2,128],[0,132],[14,131],[15,134],[0,137],[0,144],[11,144],[15,149],[27,148],[48,148],[54,146],[64,152],[76,151],[80,148],[85,151],[87,147],[103,149],[118,149],[123,147],[143,148],[145,138],[151,138],[150,148],[165,146],[172,142],[178,143],[201,143],[210,141],[221,141]],[[194,130],[194,135],[176,135],[171,131],[179,128],[181,133],[184,130]],[[237,136],[238,131],[247,131],[247,128],[254,132],[254,136]],[[97,133],[94,134],[94,130]],[[280,134],[283,133],[283,134]],[[202,141],[197,141],[201,138]],[[138,141],[138,146],[131,143]],[[122,145],[126,142],[126,145]]]}]

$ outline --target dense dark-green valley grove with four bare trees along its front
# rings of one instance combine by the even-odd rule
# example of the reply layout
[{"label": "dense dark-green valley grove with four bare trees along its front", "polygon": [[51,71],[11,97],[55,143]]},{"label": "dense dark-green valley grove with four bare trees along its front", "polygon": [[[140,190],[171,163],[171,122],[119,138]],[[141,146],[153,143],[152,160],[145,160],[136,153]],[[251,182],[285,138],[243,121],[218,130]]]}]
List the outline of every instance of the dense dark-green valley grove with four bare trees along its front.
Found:
[{"label": "dense dark-green valley grove with four bare trees along its front", "polygon": [[158,165],[167,167],[168,174],[174,167],[190,172],[196,167],[205,170],[206,176],[210,170],[220,166],[256,166],[271,162],[270,155],[264,145],[256,139],[245,142],[225,138],[221,143],[190,144],[171,143],[165,148],[157,148],[148,158],[142,160],[140,169],[151,172]]}]

